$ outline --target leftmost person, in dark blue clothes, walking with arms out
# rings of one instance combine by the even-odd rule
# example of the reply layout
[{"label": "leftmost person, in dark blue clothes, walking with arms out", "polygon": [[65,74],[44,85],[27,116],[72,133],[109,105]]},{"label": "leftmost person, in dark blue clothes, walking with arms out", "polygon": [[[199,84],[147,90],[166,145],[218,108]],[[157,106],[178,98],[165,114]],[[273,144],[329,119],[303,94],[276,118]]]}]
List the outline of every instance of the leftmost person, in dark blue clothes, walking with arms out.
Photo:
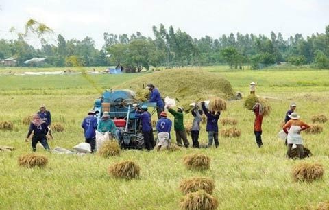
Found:
[{"label": "leftmost person, in dark blue clothes, walking with arms out", "polygon": [[31,124],[29,124],[29,132],[27,133],[27,137],[25,139],[25,142],[29,141],[29,136],[32,134],[34,136],[32,137],[32,150],[33,152],[36,152],[36,144],[38,141],[42,144],[43,148],[45,150],[50,150],[49,145],[47,143],[47,132],[48,132],[48,126],[47,123],[40,119],[40,116],[38,114],[33,115],[33,120]]}]

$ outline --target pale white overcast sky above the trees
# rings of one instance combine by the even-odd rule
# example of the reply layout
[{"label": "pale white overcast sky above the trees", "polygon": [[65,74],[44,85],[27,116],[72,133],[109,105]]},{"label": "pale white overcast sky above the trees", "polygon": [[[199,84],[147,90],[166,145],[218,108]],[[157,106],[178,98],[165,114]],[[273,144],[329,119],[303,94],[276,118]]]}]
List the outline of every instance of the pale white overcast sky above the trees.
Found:
[{"label": "pale white overcast sky above the trees", "polygon": [[152,26],[160,23],[193,38],[271,31],[306,37],[329,25],[329,0],[0,0],[0,38],[14,38],[10,27],[23,32],[29,19],[66,40],[90,36],[99,49],[104,32],[153,37]]}]

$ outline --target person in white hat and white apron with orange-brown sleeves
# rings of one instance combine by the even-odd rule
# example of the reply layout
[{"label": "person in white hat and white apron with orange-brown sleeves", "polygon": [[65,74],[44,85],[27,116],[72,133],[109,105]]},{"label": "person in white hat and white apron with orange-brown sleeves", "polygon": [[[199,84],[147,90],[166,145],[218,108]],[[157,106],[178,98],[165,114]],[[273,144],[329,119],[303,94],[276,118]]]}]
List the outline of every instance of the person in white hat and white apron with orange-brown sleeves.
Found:
[{"label": "person in white hat and white apron with orange-brown sleeves", "polygon": [[297,113],[291,113],[289,115],[290,120],[283,126],[283,130],[288,134],[288,149],[287,149],[287,157],[291,158],[291,148],[293,144],[297,145],[297,151],[300,156],[300,159],[304,159],[304,148],[303,148],[303,139],[300,135],[302,130],[310,128],[308,124],[304,123],[304,121],[300,120],[300,116]]}]

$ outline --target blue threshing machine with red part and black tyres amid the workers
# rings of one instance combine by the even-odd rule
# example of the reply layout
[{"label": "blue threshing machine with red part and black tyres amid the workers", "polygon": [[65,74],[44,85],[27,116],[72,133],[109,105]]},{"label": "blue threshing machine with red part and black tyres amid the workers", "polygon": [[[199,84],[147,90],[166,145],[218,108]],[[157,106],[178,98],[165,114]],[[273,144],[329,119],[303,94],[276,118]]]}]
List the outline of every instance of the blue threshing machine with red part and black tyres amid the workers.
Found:
[{"label": "blue threshing machine with red part and black tyres amid the workers", "polygon": [[103,112],[108,112],[114,121],[117,131],[112,134],[122,149],[143,149],[144,139],[139,119],[135,116],[135,107],[153,107],[151,115],[156,111],[156,103],[141,102],[135,99],[131,90],[105,91],[95,100],[94,110],[97,121],[101,120]]}]

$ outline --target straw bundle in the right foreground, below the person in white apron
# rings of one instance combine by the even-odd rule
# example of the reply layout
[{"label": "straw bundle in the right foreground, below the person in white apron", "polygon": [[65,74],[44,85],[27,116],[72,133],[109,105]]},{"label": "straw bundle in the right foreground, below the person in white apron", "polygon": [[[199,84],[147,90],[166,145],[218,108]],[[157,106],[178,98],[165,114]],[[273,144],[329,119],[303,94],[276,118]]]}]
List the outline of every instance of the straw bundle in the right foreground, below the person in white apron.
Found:
[{"label": "straw bundle in the right foreground, below the person in white apron", "polygon": [[324,167],[319,163],[302,162],[293,166],[291,174],[295,181],[312,182],[313,180],[322,178],[324,175]]}]

